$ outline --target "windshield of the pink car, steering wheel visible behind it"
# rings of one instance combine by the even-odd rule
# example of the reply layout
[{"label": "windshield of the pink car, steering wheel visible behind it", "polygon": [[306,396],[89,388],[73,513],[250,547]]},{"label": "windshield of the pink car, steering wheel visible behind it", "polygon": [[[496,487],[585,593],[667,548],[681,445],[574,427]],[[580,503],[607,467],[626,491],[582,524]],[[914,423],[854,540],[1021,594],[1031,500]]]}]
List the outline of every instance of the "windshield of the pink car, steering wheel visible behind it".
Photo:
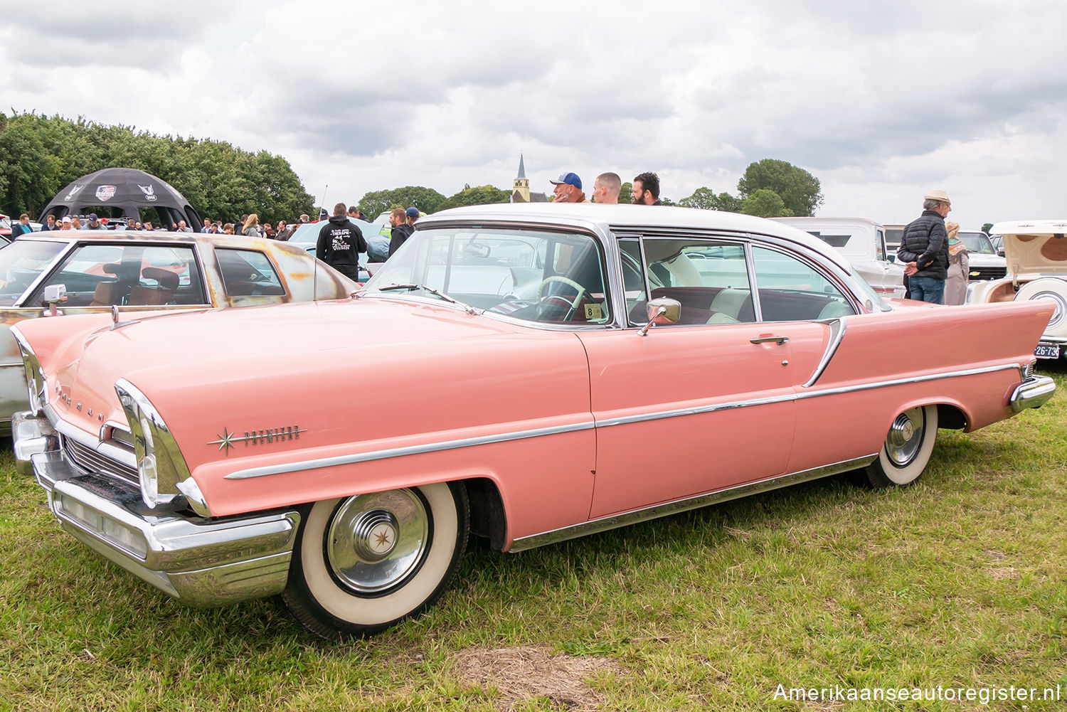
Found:
[{"label": "windshield of the pink car, steering wheel visible behind it", "polygon": [[528,321],[607,323],[604,255],[590,235],[504,227],[418,230],[365,294],[448,297]]}]

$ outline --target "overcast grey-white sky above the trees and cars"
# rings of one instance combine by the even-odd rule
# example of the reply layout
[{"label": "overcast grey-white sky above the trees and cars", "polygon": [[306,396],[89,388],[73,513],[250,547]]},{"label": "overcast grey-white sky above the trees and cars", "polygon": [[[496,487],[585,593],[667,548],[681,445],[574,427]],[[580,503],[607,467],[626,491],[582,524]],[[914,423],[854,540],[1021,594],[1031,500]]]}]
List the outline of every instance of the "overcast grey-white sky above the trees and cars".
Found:
[{"label": "overcast grey-white sky above the trees and cars", "polygon": [[1067,217],[1062,0],[2,6],[0,110],[265,149],[330,205],[510,189],[522,153],[545,192],[653,170],[673,200],[736,193],[776,158],[822,216],[907,222],[942,188],[969,230]]}]

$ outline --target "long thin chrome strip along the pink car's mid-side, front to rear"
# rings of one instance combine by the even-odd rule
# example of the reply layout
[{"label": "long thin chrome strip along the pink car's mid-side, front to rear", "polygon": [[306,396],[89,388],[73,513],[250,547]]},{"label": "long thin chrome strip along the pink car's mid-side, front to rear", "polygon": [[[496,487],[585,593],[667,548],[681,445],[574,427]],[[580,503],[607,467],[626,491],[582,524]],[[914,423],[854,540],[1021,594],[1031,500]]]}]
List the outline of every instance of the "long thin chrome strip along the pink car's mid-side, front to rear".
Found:
[{"label": "long thin chrome strip along the pink car's mid-side, front to rear", "polygon": [[[734,410],[736,408],[751,408],[754,406],[767,406],[790,400],[801,400],[806,398],[817,398],[822,396],[839,395],[842,393],[854,393],[857,391],[872,391],[874,389],[885,389],[894,385],[905,385],[908,383],[922,383],[936,381],[959,376],[974,376],[976,374],[990,374],[998,370],[1018,369],[1018,364],[1004,364],[1000,366],[986,366],[983,368],[970,368],[967,370],[944,371],[941,374],[930,374],[928,376],[915,376],[912,378],[901,378],[892,381],[877,381],[874,383],[861,383],[840,389],[826,389],[822,391],[809,391],[807,393],[789,393],[780,396],[769,396],[766,398],[752,398],[750,400],[735,400],[732,402],[715,404],[712,406],[695,406],[692,408],[679,408],[674,410],[658,411],[653,413],[641,413],[640,415],[627,415],[624,417],[611,417],[589,423],[578,423],[575,425],[561,425],[551,428],[537,428],[532,430],[519,430],[515,432],[504,432],[498,436],[482,436],[479,438],[465,438],[463,440],[448,440],[440,443],[429,443],[426,445],[412,445],[410,447],[394,447],[384,450],[372,450],[360,453],[357,455],[339,455],[331,458],[319,458],[291,462],[288,464],[269,465],[265,468],[250,468],[238,470],[225,476],[226,479],[249,479],[251,477],[266,477],[269,475],[284,475],[291,472],[303,472],[305,470],[317,470],[319,468],[332,468],[339,464],[354,464],[357,462],[369,462],[372,460],[384,460],[393,457],[405,457],[408,455],[421,455],[425,453],[436,453],[459,447],[473,447],[475,445],[489,445],[492,443],[503,443],[510,440],[525,440],[527,438],[540,438],[542,436],[554,436],[563,432],[575,432],[577,430],[588,430],[590,428],[609,428],[616,425],[627,425],[631,423],[644,423],[648,421],[658,421],[667,417],[681,417],[684,415],[698,415],[701,413],[712,413],[716,411]],[[1006,405],[1006,404],[1005,404]]]}]

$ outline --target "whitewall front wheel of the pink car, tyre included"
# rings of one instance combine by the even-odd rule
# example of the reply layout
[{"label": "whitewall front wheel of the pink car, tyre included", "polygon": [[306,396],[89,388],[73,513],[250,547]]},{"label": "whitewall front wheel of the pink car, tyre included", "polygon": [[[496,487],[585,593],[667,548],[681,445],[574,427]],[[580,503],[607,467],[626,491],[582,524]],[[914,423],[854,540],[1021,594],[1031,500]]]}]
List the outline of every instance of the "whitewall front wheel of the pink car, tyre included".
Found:
[{"label": "whitewall front wheel of the pink car, tyre included", "polygon": [[416,615],[444,592],[466,549],[461,485],[427,485],[310,505],[282,600],[324,638],[364,636]]}]

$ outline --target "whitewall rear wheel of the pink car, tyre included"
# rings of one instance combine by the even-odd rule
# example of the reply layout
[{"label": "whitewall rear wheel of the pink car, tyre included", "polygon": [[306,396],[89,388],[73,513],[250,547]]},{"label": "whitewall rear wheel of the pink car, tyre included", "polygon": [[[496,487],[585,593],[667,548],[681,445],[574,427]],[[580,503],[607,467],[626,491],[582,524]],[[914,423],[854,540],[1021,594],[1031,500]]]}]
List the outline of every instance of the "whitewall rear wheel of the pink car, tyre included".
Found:
[{"label": "whitewall rear wheel of the pink car, tyre included", "polygon": [[911,408],[893,420],[878,457],[866,466],[875,487],[903,487],[919,479],[937,440],[937,406]]}]

